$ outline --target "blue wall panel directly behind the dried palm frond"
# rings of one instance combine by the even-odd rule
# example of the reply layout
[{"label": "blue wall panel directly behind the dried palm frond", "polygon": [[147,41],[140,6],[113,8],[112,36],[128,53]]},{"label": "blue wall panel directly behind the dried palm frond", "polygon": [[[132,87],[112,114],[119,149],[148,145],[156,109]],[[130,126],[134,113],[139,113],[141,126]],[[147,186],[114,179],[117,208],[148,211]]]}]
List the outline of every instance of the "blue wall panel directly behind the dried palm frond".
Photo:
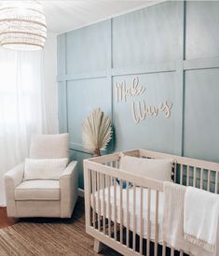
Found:
[{"label": "blue wall panel directly behind the dried palm frond", "polygon": [[111,88],[105,85],[106,78],[67,82],[68,132],[72,143],[82,145],[82,122],[91,109],[101,107],[107,115],[110,115]]}]

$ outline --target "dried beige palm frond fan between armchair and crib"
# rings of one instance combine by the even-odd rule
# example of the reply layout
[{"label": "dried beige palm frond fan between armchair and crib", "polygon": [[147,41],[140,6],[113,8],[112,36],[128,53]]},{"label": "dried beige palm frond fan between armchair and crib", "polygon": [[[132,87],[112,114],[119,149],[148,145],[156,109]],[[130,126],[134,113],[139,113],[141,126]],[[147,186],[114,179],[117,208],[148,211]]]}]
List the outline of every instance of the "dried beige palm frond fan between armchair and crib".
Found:
[{"label": "dried beige palm frond fan between armchair and crib", "polygon": [[111,121],[101,108],[96,108],[83,121],[82,141],[84,148],[96,152],[105,149],[112,138]]}]

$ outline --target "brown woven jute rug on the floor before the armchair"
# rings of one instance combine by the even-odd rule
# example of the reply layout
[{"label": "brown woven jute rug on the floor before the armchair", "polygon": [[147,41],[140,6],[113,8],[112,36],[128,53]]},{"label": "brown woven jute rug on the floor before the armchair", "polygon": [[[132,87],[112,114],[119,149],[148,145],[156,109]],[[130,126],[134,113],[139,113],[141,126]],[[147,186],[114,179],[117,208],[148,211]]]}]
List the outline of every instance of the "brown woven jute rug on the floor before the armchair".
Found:
[{"label": "brown woven jute rug on the floor before the armchair", "polygon": [[119,255],[109,248],[96,254],[93,243],[85,232],[82,200],[77,202],[71,220],[21,220],[0,229],[0,256]]}]

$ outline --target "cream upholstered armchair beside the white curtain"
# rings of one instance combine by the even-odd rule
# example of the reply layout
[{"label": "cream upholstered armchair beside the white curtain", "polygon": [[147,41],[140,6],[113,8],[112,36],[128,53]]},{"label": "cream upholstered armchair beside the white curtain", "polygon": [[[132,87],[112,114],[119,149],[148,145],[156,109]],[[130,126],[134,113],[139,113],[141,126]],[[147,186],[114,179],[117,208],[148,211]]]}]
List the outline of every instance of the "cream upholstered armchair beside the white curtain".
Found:
[{"label": "cream upholstered armchair beside the white curtain", "polygon": [[[34,135],[31,159],[69,159],[69,135]],[[76,162],[62,171],[59,179],[25,180],[24,163],[5,175],[8,217],[71,218],[77,199]]]}]

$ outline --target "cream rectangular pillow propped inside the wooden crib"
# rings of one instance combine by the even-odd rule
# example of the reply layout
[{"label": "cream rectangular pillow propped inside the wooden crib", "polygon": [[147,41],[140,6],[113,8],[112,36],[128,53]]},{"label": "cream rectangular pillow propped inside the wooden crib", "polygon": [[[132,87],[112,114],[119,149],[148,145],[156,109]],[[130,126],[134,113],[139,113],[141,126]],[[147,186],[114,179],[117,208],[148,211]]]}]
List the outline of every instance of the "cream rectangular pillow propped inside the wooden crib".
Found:
[{"label": "cream rectangular pillow propped inside the wooden crib", "polygon": [[162,181],[171,180],[172,159],[145,159],[120,155],[119,169]]}]

